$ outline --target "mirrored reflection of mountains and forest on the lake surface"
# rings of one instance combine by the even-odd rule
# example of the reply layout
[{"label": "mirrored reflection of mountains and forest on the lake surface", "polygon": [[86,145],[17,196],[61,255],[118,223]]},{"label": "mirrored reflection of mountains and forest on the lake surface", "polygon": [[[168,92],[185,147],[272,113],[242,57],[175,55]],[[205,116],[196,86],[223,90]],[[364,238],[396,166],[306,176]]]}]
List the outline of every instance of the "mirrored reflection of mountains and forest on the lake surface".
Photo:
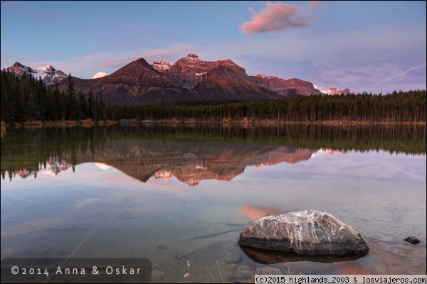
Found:
[{"label": "mirrored reflection of mountains and forest on the lake surface", "polygon": [[[319,150],[320,149],[320,150]],[[81,163],[142,182],[175,177],[190,186],[232,180],[246,167],[300,163],[319,151],[425,155],[425,126],[110,126],[18,129],[1,139],[1,175],[58,175]]]}]

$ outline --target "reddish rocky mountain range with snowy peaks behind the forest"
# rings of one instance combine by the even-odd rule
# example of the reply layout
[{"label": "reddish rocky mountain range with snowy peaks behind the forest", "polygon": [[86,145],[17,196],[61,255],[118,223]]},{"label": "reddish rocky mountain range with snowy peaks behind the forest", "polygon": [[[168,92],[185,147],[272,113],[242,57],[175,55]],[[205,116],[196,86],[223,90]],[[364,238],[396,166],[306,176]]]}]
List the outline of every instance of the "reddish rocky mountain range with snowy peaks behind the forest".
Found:
[{"label": "reddish rocky mountain range with snowy peaks behind the forest", "polygon": [[[44,75],[47,86],[58,83],[67,89],[68,75],[51,65],[33,69],[16,62],[6,70],[21,77],[23,72]],[[165,60],[150,65],[139,58],[110,75],[98,72],[92,79],[73,77],[76,92],[88,94],[92,87],[95,96],[113,104],[150,102],[193,102],[253,99],[280,99],[322,94],[308,81],[292,78],[256,75],[232,60],[204,61],[190,53],[173,65]]]}]

